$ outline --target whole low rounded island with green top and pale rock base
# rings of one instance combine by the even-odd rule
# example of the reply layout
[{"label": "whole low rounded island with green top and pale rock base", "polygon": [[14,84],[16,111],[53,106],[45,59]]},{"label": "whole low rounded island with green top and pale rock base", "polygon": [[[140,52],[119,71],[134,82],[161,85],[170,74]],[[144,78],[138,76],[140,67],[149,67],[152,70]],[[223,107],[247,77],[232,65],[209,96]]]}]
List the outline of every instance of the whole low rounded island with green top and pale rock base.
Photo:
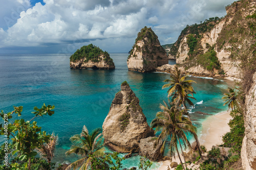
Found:
[{"label": "whole low rounded island with green top and pale rock base", "polygon": [[115,69],[113,59],[108,52],[89,44],[82,46],[70,57],[70,68],[73,69]]}]

